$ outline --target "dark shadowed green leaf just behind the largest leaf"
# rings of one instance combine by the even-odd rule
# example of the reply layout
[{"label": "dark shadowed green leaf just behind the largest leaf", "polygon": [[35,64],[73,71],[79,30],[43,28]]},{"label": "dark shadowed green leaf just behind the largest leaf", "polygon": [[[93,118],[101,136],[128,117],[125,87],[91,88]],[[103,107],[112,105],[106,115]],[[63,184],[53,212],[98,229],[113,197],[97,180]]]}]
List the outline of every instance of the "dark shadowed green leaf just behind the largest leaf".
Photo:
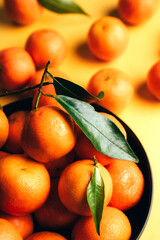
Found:
[{"label": "dark shadowed green leaf just behind the largest leaf", "polygon": [[100,92],[97,97],[87,92],[83,87],[63,78],[53,77],[52,74],[47,72],[53,79],[53,84],[57,95],[65,95],[72,98],[77,98],[85,102],[97,102],[104,97],[104,92]]}]

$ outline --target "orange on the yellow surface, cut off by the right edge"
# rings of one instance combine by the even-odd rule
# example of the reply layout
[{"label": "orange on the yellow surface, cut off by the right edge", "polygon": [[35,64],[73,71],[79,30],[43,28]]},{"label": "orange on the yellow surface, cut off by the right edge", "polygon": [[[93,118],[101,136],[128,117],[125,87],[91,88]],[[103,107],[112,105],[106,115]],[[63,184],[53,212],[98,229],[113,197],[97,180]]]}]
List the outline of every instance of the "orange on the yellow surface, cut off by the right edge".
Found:
[{"label": "orange on the yellow surface, cut off by the right edge", "polygon": [[160,100],[160,61],[148,71],[147,88],[155,98]]}]

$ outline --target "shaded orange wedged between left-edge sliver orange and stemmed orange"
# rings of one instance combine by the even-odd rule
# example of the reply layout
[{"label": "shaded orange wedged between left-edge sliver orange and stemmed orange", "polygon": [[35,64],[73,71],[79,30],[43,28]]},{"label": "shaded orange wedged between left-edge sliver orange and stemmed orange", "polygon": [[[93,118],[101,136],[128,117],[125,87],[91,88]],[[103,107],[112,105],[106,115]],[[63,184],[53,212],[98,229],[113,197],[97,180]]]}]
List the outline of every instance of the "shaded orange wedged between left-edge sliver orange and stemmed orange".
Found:
[{"label": "shaded orange wedged between left-edge sliver orange and stemmed orange", "polygon": [[9,135],[5,143],[5,150],[10,153],[23,153],[21,147],[21,133],[28,111],[17,111],[9,117]]}]

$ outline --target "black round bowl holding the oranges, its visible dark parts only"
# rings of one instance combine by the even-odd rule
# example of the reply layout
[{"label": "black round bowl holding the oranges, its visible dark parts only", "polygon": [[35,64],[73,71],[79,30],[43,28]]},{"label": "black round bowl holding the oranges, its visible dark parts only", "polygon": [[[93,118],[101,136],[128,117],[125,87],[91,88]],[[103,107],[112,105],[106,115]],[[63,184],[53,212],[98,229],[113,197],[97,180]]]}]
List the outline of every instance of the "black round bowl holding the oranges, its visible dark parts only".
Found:
[{"label": "black round bowl holding the oranges, its visible dark parts only", "polygon": [[[31,101],[31,99],[23,99],[17,102],[13,102],[5,105],[3,107],[3,110],[7,116],[17,110],[30,110]],[[96,111],[107,112],[116,117],[122,123],[127,132],[127,141],[140,160],[138,166],[141,169],[145,179],[144,193],[140,202],[134,208],[125,212],[132,226],[132,236],[130,240],[138,240],[148,221],[153,197],[153,179],[148,157],[139,139],[121,119],[101,106],[98,106],[96,104],[93,104],[93,106],[95,107]]]}]

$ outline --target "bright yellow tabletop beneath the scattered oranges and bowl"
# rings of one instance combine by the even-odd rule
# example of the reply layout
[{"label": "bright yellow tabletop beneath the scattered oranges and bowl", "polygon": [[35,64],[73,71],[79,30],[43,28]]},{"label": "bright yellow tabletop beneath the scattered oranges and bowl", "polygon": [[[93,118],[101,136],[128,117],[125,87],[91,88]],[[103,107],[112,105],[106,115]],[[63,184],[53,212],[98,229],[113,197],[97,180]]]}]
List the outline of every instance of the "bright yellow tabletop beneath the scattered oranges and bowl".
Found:
[{"label": "bright yellow tabletop beneath the scattered oranges and bowl", "polygon": [[[160,102],[146,88],[146,76],[150,67],[160,57],[160,8],[154,16],[141,26],[129,27],[130,41],[123,55],[110,63],[96,60],[86,45],[86,35],[91,23],[108,15],[116,8],[116,0],[77,0],[90,17],[69,14],[58,15],[47,10],[41,19],[30,26],[13,25],[3,11],[0,0],[0,49],[21,46],[30,33],[41,28],[59,31],[68,44],[68,55],[60,69],[72,81],[87,86],[90,77],[104,67],[117,67],[128,73],[135,88],[131,104],[119,117],[136,133],[150,159],[154,181],[153,206],[141,240],[160,239]],[[2,105],[17,97],[1,98]]]}]

